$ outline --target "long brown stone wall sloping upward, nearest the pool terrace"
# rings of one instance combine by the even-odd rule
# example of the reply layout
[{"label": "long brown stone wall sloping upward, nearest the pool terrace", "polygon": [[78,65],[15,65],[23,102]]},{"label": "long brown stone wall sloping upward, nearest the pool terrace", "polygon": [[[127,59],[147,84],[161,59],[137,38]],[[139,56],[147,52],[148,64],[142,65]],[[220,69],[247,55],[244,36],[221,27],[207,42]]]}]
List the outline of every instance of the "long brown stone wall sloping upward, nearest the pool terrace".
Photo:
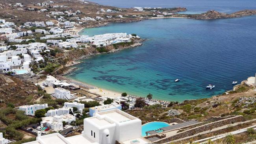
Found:
[{"label": "long brown stone wall sloping upward, nearest the pool terrace", "polygon": [[236,117],[233,117],[233,118],[228,118],[228,119],[220,120],[220,121],[217,121],[217,122],[211,122],[209,124],[205,124],[205,125],[200,126],[200,127],[195,127],[193,129],[188,129],[186,131],[182,131],[182,132],[180,132],[176,135],[173,135],[173,136],[165,138],[165,139],[158,140],[158,141],[153,142],[153,143],[162,144],[162,143],[165,143],[165,142],[171,142],[172,140],[177,140],[177,139],[180,139],[180,138],[189,137],[191,135],[195,135],[197,133],[208,131],[208,130],[211,130],[211,129],[216,128],[216,127],[221,127],[221,126],[224,126],[224,125],[233,124],[235,122],[241,122],[243,120],[244,120],[243,116],[236,116]]}]

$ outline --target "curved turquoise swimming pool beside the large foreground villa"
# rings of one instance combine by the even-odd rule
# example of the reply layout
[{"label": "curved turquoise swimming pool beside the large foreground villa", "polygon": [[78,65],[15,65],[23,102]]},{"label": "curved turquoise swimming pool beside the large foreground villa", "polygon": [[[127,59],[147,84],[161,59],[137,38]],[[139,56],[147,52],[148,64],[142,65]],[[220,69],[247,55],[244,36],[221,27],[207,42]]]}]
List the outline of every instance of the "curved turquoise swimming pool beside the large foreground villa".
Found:
[{"label": "curved turquoise swimming pool beside the large foreground villa", "polygon": [[141,135],[144,137],[146,136],[146,131],[152,131],[155,129],[159,129],[162,127],[170,126],[166,122],[149,122],[147,124],[144,124],[141,129]]}]

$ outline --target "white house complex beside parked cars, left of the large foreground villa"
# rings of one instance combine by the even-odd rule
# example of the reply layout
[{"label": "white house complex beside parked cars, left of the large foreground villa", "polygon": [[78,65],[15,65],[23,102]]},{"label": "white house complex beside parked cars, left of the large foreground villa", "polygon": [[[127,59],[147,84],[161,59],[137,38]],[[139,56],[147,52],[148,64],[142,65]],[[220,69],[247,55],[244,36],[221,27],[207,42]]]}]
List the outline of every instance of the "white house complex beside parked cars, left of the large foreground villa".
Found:
[{"label": "white house complex beside parked cars, left of the large foreground villa", "polygon": [[[60,131],[63,129],[63,123],[67,122],[70,124],[71,122],[76,121],[76,117],[71,114],[63,114],[63,115],[56,115],[56,116],[47,116],[42,118],[42,122],[40,122],[41,127],[49,127],[54,131]],[[52,139],[53,140],[53,139]],[[58,143],[55,143],[58,144]]]}]

